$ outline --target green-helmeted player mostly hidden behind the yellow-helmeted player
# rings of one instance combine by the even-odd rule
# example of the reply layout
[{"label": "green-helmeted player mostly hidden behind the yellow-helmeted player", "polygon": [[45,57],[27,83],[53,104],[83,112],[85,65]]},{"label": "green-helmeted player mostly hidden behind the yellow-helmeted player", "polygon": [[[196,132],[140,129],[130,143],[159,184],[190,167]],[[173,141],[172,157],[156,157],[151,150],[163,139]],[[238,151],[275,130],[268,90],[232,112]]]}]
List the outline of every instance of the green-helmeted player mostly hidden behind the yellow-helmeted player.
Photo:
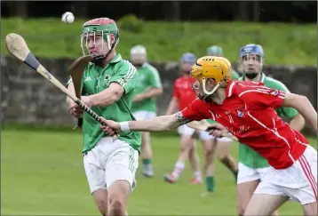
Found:
[{"label": "green-helmeted player mostly hidden behind the yellow-helmeted player", "polygon": [[[219,57],[224,57],[223,54],[223,49],[220,46],[217,45],[212,45],[210,46],[207,50],[207,55],[210,56],[219,56]],[[239,74],[232,69],[232,79],[238,79],[239,78]],[[215,124],[216,122],[208,119],[207,120],[210,124]],[[213,148],[217,148],[217,156],[219,158],[219,161],[224,164],[234,175],[235,175],[235,181],[237,179],[237,172],[238,172],[238,165],[237,162],[235,160],[235,158],[233,156],[230,155],[229,152],[229,146],[232,143],[232,140],[227,138],[227,137],[223,137],[223,138],[214,138],[213,139],[213,144],[212,147]],[[214,151],[214,149],[213,149]],[[208,192],[212,192],[209,191]]]}]

